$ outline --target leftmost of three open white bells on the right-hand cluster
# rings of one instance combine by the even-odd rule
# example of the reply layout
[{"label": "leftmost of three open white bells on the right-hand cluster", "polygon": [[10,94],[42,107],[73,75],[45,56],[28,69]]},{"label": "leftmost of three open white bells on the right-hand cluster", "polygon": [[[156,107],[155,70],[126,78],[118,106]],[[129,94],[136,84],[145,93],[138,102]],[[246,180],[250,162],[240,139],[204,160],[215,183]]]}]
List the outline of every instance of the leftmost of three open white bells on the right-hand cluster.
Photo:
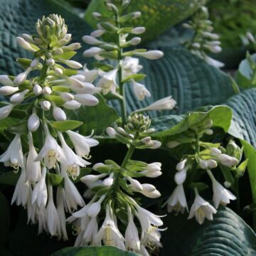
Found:
[{"label": "leftmost of three open white bells on the right-hand cluster", "polygon": [[173,210],[175,210],[176,213],[184,213],[185,209],[188,211],[188,205],[186,202],[186,196],[182,184],[176,186],[174,192],[171,194],[171,196],[164,205],[166,204],[169,213],[171,213],[171,211]]}]

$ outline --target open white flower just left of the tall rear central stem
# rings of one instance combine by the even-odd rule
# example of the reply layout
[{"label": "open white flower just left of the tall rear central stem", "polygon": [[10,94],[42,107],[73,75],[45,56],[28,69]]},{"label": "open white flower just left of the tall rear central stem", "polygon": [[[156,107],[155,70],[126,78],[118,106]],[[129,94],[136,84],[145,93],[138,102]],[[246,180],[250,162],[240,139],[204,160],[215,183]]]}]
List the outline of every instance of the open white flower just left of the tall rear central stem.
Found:
[{"label": "open white flower just left of the tall rear central stem", "polygon": [[102,93],[106,95],[108,92],[114,93],[117,87],[117,68],[109,72],[99,71],[100,80],[97,82],[97,87],[102,88]]}]

